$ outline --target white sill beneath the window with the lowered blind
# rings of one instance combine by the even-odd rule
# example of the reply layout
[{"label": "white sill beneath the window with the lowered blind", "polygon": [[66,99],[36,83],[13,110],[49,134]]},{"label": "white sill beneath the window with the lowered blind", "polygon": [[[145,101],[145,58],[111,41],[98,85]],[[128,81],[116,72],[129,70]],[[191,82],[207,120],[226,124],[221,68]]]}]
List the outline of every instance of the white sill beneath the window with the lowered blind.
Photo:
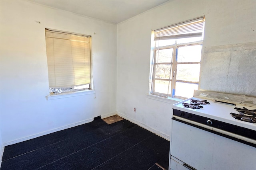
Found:
[{"label": "white sill beneath the window with the lowered blind", "polygon": [[95,90],[82,90],[77,92],[53,94],[53,95],[46,96],[46,98],[47,100],[54,100],[54,99],[70,98],[74,96],[82,96],[82,95],[88,95],[88,94],[95,94]]}]

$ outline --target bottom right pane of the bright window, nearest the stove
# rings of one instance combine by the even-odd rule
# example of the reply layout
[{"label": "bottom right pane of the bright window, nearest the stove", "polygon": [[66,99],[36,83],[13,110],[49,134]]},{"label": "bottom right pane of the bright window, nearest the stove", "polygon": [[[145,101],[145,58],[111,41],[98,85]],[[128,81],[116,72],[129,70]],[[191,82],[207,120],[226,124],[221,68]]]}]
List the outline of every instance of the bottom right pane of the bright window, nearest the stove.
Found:
[{"label": "bottom right pane of the bright window, nearest the stove", "polygon": [[175,88],[175,96],[191,98],[194,90],[198,90],[198,84],[176,82]]}]

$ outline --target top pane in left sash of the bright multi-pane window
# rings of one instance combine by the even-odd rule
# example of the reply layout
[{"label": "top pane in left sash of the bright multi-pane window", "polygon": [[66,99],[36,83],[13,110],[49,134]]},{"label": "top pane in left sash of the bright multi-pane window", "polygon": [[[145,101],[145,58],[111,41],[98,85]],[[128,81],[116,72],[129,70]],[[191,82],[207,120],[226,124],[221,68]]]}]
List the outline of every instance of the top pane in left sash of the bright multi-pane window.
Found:
[{"label": "top pane in left sash of the bright multi-pane window", "polygon": [[173,49],[156,50],[156,63],[172,63]]}]

